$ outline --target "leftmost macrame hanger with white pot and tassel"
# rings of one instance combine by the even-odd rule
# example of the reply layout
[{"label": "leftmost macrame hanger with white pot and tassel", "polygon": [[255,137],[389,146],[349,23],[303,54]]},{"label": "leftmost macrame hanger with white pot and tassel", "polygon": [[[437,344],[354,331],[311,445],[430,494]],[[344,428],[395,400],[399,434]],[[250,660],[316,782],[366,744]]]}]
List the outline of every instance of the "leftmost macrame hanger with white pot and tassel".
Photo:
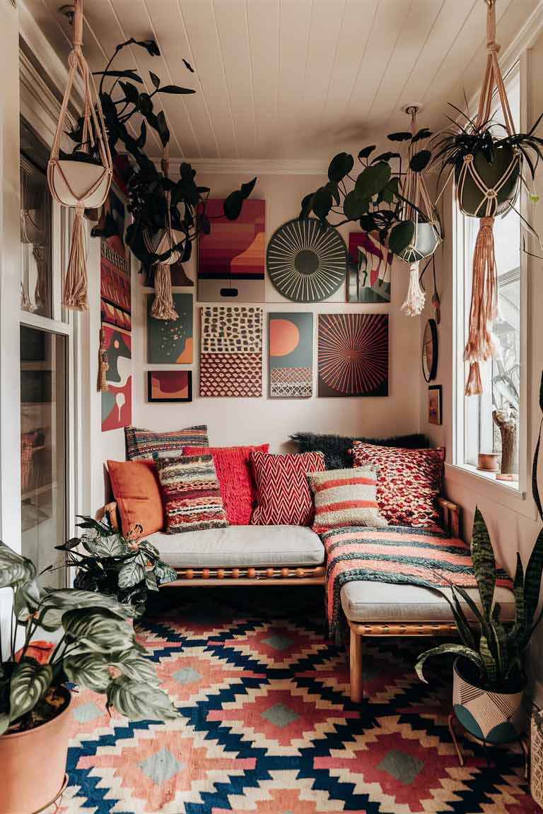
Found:
[{"label": "leftmost macrame hanger with white pot and tassel", "polygon": [[[112,156],[107,142],[102,105],[96,85],[94,85],[94,78],[81,50],[82,45],[83,0],[75,0],[72,50],[68,56],[68,85],[64,91],[59,123],[47,166],[47,181],[50,193],[55,200],[63,206],[76,210],[62,298],[62,303],[66,308],[76,311],[83,311],[88,307],[83,214],[85,208],[99,208],[105,203],[112,183]],[[76,160],[69,155],[60,155],[60,142],[63,132],[68,126],[66,121],[68,103],[78,72],[81,74],[85,93],[81,152],[90,153],[90,150],[94,148],[98,155],[98,162]]]}]

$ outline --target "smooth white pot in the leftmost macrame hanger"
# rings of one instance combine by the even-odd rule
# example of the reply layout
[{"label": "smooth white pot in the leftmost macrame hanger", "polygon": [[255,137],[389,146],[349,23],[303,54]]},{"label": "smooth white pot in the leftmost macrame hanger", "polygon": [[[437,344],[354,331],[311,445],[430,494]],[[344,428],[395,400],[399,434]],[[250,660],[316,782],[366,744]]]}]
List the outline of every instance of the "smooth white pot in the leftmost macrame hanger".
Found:
[{"label": "smooth white pot in the leftmost macrame hanger", "polygon": [[61,204],[77,206],[81,201],[87,209],[102,206],[112,181],[111,173],[102,164],[73,159],[50,161],[47,177]]}]

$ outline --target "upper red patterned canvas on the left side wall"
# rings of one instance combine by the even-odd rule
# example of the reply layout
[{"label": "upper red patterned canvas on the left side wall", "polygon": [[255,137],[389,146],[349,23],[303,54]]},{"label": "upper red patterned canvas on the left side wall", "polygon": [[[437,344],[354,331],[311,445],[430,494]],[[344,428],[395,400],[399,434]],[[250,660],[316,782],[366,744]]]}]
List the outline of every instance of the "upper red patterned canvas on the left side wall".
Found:
[{"label": "upper red patterned canvas on the left side wall", "polygon": [[116,230],[100,245],[100,310],[102,322],[130,330],[130,269],[125,249],[125,204],[113,190],[107,199],[104,224]]}]

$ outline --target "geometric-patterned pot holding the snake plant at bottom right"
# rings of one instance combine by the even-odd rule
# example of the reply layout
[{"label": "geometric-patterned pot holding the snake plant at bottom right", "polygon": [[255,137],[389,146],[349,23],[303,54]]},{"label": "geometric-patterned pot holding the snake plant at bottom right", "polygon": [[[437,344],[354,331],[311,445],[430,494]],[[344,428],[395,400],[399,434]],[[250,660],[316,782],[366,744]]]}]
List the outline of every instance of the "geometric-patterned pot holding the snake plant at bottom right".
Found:
[{"label": "geometric-patterned pot holding the snake plant at bottom right", "polygon": [[453,667],[454,714],[471,735],[485,743],[509,743],[519,739],[526,720],[524,688],[514,693],[481,689],[474,680],[476,669],[466,659]]}]

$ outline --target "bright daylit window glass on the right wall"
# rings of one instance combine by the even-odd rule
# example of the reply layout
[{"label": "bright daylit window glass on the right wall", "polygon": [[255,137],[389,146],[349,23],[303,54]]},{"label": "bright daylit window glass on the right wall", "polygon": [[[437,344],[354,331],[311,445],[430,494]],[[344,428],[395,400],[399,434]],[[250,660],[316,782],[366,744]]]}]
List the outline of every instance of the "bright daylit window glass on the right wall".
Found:
[{"label": "bright daylit window glass on the right wall", "polygon": [[[520,125],[520,72],[518,66],[506,77],[515,128]],[[495,115],[500,120],[501,110]],[[519,209],[519,202],[515,204]],[[521,422],[521,311],[522,255],[521,221],[511,209],[494,221],[494,246],[498,278],[498,317],[494,322],[496,357],[480,365],[484,392],[465,396],[467,370],[463,361],[471,302],[471,264],[479,230],[476,218],[464,217],[454,208],[456,218],[456,444],[454,463],[477,466],[479,453],[501,453],[501,424],[516,436],[515,472],[519,472],[519,435]],[[510,486],[519,487],[518,476]]]}]

